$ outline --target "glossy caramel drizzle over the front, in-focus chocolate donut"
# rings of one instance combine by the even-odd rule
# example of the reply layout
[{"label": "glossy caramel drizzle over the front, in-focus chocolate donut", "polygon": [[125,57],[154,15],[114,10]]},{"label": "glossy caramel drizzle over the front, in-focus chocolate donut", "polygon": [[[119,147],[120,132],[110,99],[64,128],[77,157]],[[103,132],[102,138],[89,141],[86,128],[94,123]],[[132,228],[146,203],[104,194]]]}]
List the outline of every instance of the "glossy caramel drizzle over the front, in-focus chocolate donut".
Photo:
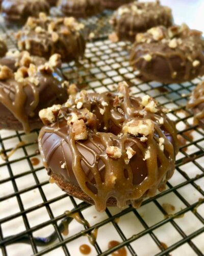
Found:
[{"label": "glossy caramel drizzle over the front, in-focus chocolate donut", "polygon": [[[124,207],[127,201],[130,201],[133,206],[138,207],[141,204],[142,198],[144,196],[152,197],[156,194],[157,188],[159,190],[164,189],[166,181],[172,176],[174,171],[174,159],[175,152],[177,152],[176,145],[176,131],[172,122],[159,110],[158,114],[146,112],[146,115],[141,118],[137,114],[137,110],[140,109],[140,99],[135,97],[130,97],[129,89],[124,86],[121,93],[123,94],[123,102],[120,105],[120,108],[123,111],[123,115],[119,114],[113,108],[111,103],[110,93],[104,94],[90,94],[88,95],[87,102],[90,105],[99,104],[99,102],[106,101],[108,106],[105,107],[105,114],[103,116],[104,123],[112,120],[117,127],[122,127],[121,119],[132,120],[134,119],[151,119],[154,122],[155,131],[152,134],[148,135],[148,140],[146,142],[146,147],[140,142],[139,139],[123,134],[121,137],[114,135],[112,133],[98,132],[97,130],[89,130],[88,140],[97,147],[98,153],[91,150],[88,146],[84,145],[83,142],[75,141],[74,134],[72,129],[69,129],[68,135],[63,134],[60,130],[56,131],[55,127],[45,126],[40,132],[39,135],[39,148],[43,157],[45,166],[48,166],[49,159],[52,158],[54,153],[54,148],[50,148],[50,154],[46,157],[43,154],[43,135],[45,133],[55,133],[59,135],[63,140],[68,143],[72,155],[72,170],[75,178],[81,189],[87,194],[95,203],[95,207],[98,211],[103,211],[106,209],[106,202],[109,198],[113,197],[117,200],[118,207]],[[139,105],[138,108],[135,104]],[[90,107],[90,106],[89,106]],[[120,118],[115,118],[116,113]],[[164,118],[164,124],[162,127],[157,123],[157,118]],[[164,132],[169,133],[174,140],[173,148],[172,143],[165,136]],[[94,141],[93,135],[97,135],[100,138],[101,146]],[[158,138],[164,138],[164,151],[162,151],[158,144]],[[124,158],[126,156],[125,144],[127,142],[132,142],[137,145],[139,151],[145,156],[145,153],[148,149],[150,157],[146,160],[147,168],[147,177],[138,185],[133,184],[133,170],[130,164],[125,164]],[[104,148],[117,144],[120,147],[122,152],[122,157],[115,160],[109,158],[106,154]],[[89,163],[85,157],[79,152],[78,146],[83,146],[89,151],[93,157],[94,162]],[[60,146],[60,143],[58,145]],[[137,153],[136,153],[137,155]],[[104,181],[101,179],[100,172],[98,169],[98,161],[102,160],[105,164],[105,177]],[[82,162],[90,169],[95,183],[93,183],[85,174],[85,171],[82,167]],[[160,164],[159,164],[160,163]],[[124,177],[124,169],[127,170],[129,177]],[[115,182],[113,182],[113,179]],[[94,193],[93,189],[87,186],[91,184],[95,187],[97,193]]]}]

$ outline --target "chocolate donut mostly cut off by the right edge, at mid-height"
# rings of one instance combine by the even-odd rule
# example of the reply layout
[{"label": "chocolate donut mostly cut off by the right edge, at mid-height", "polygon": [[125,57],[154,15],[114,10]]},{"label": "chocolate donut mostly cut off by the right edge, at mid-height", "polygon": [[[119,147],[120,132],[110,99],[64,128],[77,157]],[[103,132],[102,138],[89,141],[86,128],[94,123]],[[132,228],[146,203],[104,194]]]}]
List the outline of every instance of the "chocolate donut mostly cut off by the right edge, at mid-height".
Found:
[{"label": "chocolate donut mostly cut off by the right edge, at mid-height", "polygon": [[204,130],[204,82],[196,86],[193,90],[190,100],[187,104],[187,109],[194,113],[194,122],[199,124]]}]

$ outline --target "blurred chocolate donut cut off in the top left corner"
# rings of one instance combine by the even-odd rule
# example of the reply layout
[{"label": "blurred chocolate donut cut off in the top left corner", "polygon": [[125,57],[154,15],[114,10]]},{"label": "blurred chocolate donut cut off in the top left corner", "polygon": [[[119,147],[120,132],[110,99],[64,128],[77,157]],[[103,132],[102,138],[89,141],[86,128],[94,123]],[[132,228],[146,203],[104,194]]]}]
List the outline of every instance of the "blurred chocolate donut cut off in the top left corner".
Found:
[{"label": "blurred chocolate donut cut off in the top left corner", "polygon": [[2,15],[8,23],[24,24],[29,16],[49,13],[46,0],[3,0]]}]

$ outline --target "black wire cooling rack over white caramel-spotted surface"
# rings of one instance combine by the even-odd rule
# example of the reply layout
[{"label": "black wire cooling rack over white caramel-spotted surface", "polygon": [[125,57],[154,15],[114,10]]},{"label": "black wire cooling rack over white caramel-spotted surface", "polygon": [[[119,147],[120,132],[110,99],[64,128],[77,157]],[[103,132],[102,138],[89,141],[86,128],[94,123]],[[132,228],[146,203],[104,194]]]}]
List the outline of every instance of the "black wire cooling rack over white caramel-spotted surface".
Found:
[{"label": "black wire cooling rack over white caramel-spotted surface", "polygon": [[[15,48],[12,30],[2,26],[0,32],[7,36],[9,48]],[[124,246],[128,255],[203,255],[204,131],[193,124],[192,113],[185,109],[201,78],[181,84],[144,83],[129,65],[129,47],[124,42],[95,38],[88,43],[81,66],[64,64],[62,70],[70,82],[90,92],[113,91],[118,82],[126,80],[134,95],[148,94],[172,109],[168,115],[175,120],[183,145],[167,189],[145,200],[137,210],[131,206],[107,208],[98,214],[94,206],[50,184],[42,163],[32,164],[33,157],[40,159],[39,131],[30,135],[0,131],[6,156],[19,141],[25,142],[11,158],[0,160],[0,255],[80,255],[82,240],[88,244],[85,236],[95,229],[98,237],[92,255],[110,255]],[[169,214],[165,204],[175,209]],[[71,209],[90,226],[67,218],[63,212]],[[70,223],[68,236],[62,234],[65,222]],[[111,240],[121,243],[108,250]]]}]

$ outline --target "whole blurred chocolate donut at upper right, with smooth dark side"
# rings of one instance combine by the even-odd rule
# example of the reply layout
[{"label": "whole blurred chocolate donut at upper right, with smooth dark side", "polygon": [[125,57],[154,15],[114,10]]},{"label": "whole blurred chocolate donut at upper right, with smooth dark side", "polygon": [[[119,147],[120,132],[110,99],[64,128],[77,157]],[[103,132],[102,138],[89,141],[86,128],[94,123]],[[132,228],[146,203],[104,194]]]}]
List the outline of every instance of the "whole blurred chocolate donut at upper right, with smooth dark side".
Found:
[{"label": "whole blurred chocolate donut at upper right, with smooth dark side", "polygon": [[148,80],[178,83],[204,74],[201,32],[186,25],[155,27],[138,34],[130,63]]}]

